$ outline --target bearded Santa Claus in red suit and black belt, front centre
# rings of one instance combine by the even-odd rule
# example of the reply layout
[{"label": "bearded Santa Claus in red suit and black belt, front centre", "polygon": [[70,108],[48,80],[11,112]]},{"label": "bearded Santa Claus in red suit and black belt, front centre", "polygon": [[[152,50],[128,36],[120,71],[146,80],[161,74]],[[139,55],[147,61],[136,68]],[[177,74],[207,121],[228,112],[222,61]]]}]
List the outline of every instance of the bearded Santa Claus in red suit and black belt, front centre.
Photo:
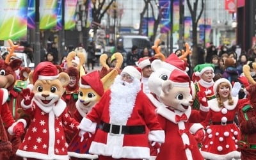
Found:
[{"label": "bearded Santa Claus in red suit and black belt, front centre", "polygon": [[152,104],[141,91],[140,78],[136,68],[125,67],[81,121],[81,136],[94,133],[97,122],[100,123],[90,154],[99,155],[99,159],[149,159],[148,140],[154,145],[164,142],[164,131],[150,109]]}]

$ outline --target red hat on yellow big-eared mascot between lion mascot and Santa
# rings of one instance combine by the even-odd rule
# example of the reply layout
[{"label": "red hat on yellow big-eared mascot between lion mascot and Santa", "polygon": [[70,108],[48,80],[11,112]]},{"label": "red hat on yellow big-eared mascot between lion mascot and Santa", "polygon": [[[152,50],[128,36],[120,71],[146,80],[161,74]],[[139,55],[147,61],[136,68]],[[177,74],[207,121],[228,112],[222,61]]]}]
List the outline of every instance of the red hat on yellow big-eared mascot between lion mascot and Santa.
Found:
[{"label": "red hat on yellow big-eared mascot between lion mascot and Santa", "polygon": [[79,83],[80,88],[92,88],[100,96],[104,94],[103,84],[97,70],[82,76]]}]

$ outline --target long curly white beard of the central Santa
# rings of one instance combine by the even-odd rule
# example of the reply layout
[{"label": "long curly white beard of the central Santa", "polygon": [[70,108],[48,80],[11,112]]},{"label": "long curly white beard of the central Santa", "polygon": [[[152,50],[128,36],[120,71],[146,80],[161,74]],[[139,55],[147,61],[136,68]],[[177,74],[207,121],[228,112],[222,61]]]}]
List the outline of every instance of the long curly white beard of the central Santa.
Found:
[{"label": "long curly white beard of the central Santa", "polygon": [[121,80],[121,76],[118,75],[110,90],[110,123],[125,125],[128,118],[131,116],[136,96],[141,90],[141,83],[135,78],[132,83],[124,83],[124,81]]}]

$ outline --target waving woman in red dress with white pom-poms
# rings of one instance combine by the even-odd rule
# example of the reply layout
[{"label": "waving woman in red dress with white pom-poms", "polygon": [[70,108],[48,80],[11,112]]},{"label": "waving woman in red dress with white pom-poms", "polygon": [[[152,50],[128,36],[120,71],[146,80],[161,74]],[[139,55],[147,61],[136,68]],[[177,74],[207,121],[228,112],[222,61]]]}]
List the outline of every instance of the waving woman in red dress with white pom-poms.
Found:
[{"label": "waving woman in red dress with white pom-poms", "polygon": [[237,151],[236,142],[240,139],[240,132],[233,120],[239,106],[248,100],[239,100],[230,94],[236,92],[234,95],[237,95],[240,83],[235,83],[232,89],[230,82],[221,78],[213,88],[216,98],[208,100],[210,111],[205,118],[206,136],[201,153],[205,159],[239,159],[241,154]]}]

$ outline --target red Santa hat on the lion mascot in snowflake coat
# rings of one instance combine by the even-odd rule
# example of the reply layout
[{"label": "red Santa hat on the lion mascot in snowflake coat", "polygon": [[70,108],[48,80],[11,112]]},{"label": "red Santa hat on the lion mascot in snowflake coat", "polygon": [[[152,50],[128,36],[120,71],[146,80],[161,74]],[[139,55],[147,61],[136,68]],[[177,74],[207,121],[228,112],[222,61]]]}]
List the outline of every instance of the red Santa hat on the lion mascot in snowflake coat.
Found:
[{"label": "red Santa hat on the lion mascot in snowflake coat", "polygon": [[49,61],[39,63],[33,72],[33,84],[37,80],[53,80],[58,78],[58,69]]}]

